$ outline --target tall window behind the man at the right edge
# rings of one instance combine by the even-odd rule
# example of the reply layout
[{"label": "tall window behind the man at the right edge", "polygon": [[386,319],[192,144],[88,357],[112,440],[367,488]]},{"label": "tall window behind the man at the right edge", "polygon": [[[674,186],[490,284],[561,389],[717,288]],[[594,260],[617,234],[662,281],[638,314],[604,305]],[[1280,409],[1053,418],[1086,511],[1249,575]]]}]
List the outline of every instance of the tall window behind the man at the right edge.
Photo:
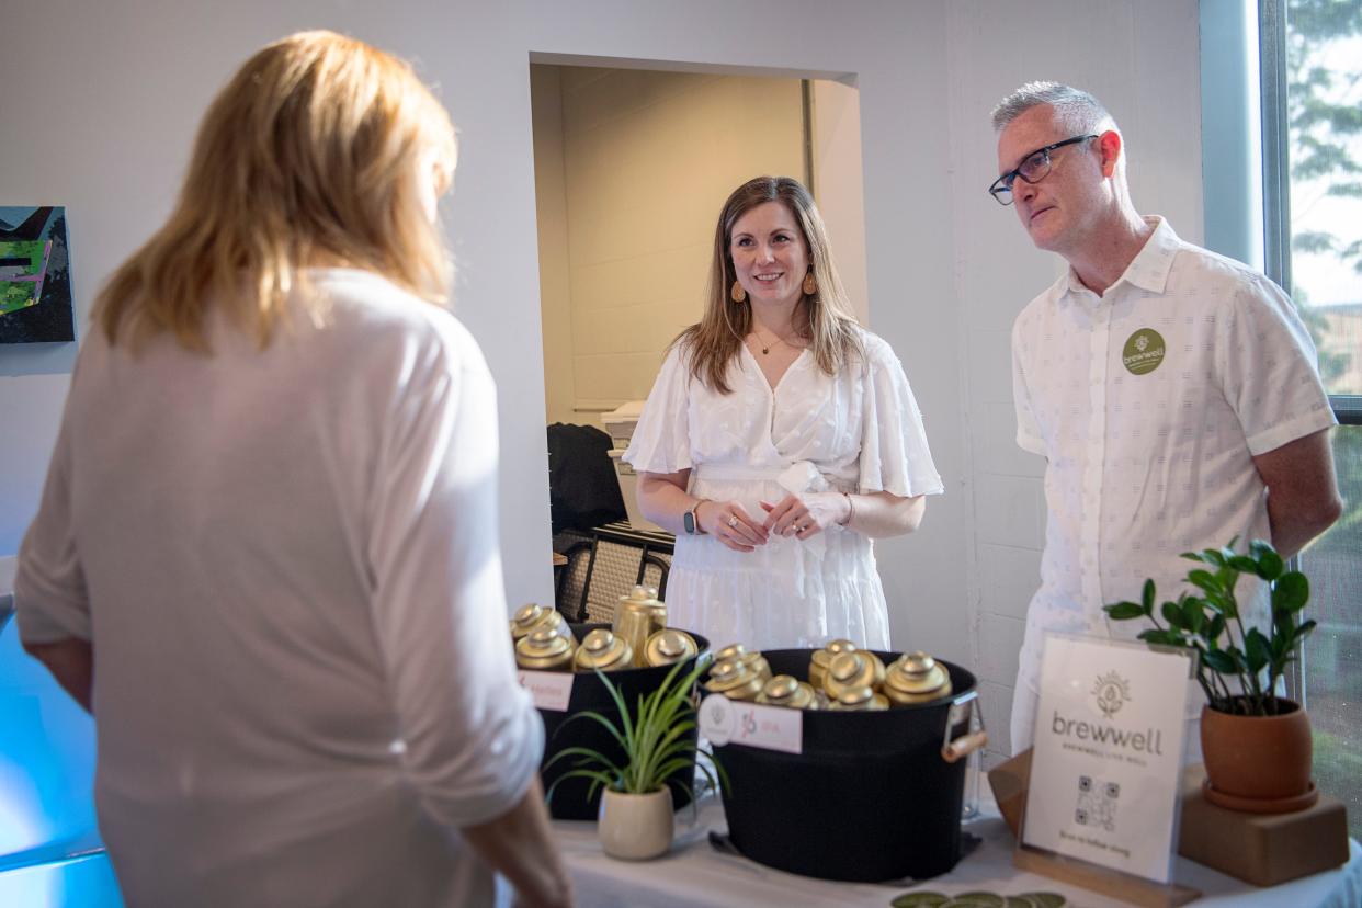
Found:
[{"label": "tall window behind the man at the right edge", "polygon": [[1362,836],[1362,0],[1261,0],[1268,275],[1320,353],[1344,512],[1301,555],[1318,621],[1294,678],[1314,775]]}]

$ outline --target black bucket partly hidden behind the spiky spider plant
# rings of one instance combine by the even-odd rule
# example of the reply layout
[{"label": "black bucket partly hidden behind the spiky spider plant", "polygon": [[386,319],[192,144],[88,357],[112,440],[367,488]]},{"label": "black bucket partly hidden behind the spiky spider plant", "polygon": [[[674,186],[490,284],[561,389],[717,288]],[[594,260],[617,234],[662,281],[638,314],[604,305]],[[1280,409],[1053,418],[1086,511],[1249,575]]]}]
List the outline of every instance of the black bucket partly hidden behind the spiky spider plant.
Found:
[{"label": "black bucket partly hidden behind the spiky spider plant", "polygon": [[[609,629],[610,625],[571,625],[572,636],[582,640],[587,632],[595,628]],[[695,637],[696,644],[700,648],[700,653],[704,653],[710,648],[710,641],[697,634],[691,634]],[[688,672],[695,668],[695,659],[686,659],[685,667],[681,672]],[[624,697],[624,702],[629,707],[631,715],[637,715],[639,697],[643,694],[650,694],[662,686],[666,681],[667,672],[671,671],[671,666],[651,666],[647,668],[621,668],[618,671],[606,672],[610,678],[610,683],[618,687],[620,694]],[[609,731],[606,731],[601,723],[592,719],[573,719],[571,723],[568,719],[583,711],[599,712],[606,719],[618,723],[620,709],[614,705],[614,700],[610,697],[610,692],[601,682],[601,678],[594,672],[579,671],[573,672],[572,679],[572,697],[568,700],[567,712],[558,712],[556,709],[541,709],[539,715],[543,716],[543,761],[539,764],[539,777],[543,781],[543,790],[548,791],[554,783],[558,783],[564,775],[576,766],[580,757],[564,757],[552,766],[548,762],[553,760],[554,754],[567,747],[590,747],[599,751],[602,756],[609,758],[616,765],[624,762],[624,747],[616,741]],[[692,745],[697,741],[696,730],[691,730],[686,734],[686,741]],[[545,768],[548,766],[548,768]],[[667,787],[671,788],[671,805],[676,809],[681,809],[691,803],[691,795],[686,792],[686,787],[695,784],[695,764],[689,768],[678,769],[671,773],[667,779]],[[685,787],[682,787],[685,785]],[[565,779],[558,783],[558,787],[553,790],[553,796],[549,799],[549,813],[554,820],[595,820],[601,809],[601,788],[595,790],[591,798],[587,798],[587,791],[591,788],[590,779],[573,777]]]}]

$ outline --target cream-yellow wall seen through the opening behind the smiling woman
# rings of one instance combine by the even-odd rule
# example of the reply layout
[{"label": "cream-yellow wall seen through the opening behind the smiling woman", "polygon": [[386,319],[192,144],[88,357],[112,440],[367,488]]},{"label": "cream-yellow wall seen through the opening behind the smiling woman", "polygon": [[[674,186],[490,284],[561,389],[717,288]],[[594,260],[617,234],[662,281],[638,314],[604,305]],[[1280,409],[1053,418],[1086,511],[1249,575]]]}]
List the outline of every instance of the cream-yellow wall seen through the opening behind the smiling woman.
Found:
[{"label": "cream-yellow wall seen through the opening behind the smiling woman", "polygon": [[[598,412],[647,396],[667,344],[700,320],[714,218],[729,192],[761,173],[802,176],[804,105],[797,79],[560,69],[568,421],[599,425]],[[541,274],[546,308],[561,293],[549,278]],[[550,350],[563,346],[545,334]],[[548,369],[546,378],[564,384]]]}]

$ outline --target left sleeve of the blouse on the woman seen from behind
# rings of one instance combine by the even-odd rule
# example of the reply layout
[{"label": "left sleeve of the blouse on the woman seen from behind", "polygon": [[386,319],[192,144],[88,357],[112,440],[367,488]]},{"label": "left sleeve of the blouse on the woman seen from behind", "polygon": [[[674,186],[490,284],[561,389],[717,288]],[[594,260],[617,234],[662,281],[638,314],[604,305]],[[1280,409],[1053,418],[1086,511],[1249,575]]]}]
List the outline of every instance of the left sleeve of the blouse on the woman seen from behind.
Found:
[{"label": "left sleeve of the blouse on the woman seen from behind", "polygon": [[76,549],[71,502],[69,418],[68,399],[38,516],[19,546],[14,603],[19,637],[26,644],[56,643],[69,637],[90,640],[90,600]]}]

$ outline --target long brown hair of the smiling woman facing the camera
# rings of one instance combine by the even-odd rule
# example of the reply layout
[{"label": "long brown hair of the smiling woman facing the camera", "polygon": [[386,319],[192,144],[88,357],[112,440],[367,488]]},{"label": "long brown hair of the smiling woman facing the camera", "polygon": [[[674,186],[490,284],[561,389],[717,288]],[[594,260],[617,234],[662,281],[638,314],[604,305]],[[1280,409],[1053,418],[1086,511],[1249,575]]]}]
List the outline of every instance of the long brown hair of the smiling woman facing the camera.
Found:
[{"label": "long brown hair of the smiling woman facing the camera", "polygon": [[[756,177],[734,189],[719,211],[704,316],[671,342],[673,346],[681,344],[689,358],[691,374],[720,393],[731,391],[727,381],[729,366],[738,355],[742,339],[752,331],[750,301],[733,302],[729,295],[733,282],[738,279],[729,252],[733,225],[767,201],[779,201],[794,215],[809,249],[809,263],[819,289],[801,297],[795,309],[795,327],[809,340],[814,362],[824,373],[834,376],[853,354],[862,351],[855,314],[832,263],[828,231],[819,207],[813,204],[813,196],[798,180]],[[799,324],[801,314],[804,324]]]}]

